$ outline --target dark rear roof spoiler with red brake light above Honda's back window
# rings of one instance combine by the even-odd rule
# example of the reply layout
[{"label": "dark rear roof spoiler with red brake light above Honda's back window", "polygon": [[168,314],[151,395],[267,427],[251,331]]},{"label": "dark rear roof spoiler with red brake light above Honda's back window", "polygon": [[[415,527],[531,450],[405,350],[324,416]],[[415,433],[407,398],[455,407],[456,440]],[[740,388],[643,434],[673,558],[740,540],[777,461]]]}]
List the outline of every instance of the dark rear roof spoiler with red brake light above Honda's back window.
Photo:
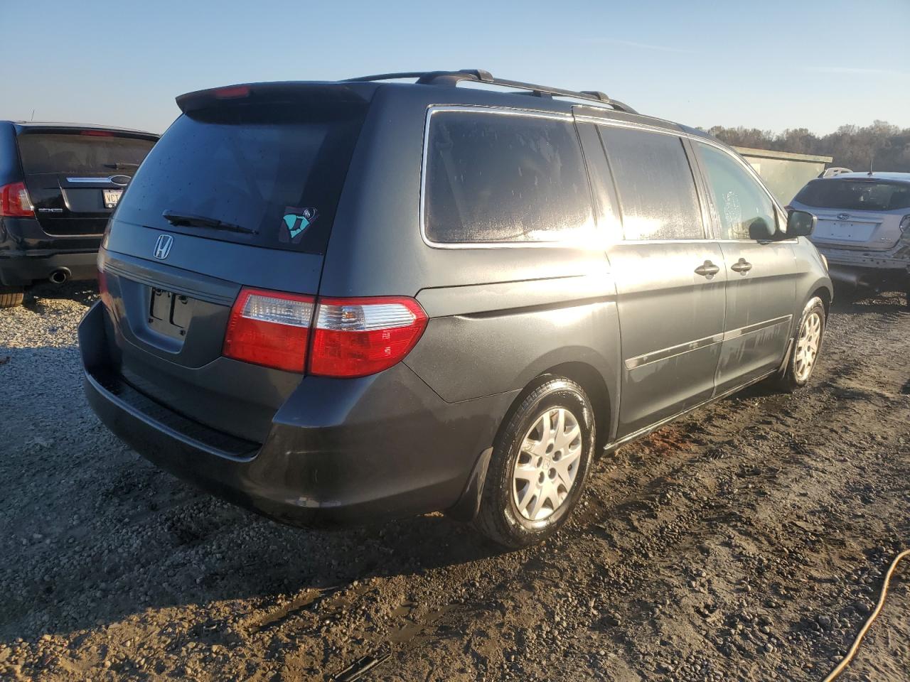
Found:
[{"label": "dark rear roof spoiler with red brake light above Honda's back window", "polygon": [[321,104],[367,104],[378,83],[300,82],[249,83],[197,90],[177,95],[177,106],[187,114],[199,109],[259,102],[319,102]]}]

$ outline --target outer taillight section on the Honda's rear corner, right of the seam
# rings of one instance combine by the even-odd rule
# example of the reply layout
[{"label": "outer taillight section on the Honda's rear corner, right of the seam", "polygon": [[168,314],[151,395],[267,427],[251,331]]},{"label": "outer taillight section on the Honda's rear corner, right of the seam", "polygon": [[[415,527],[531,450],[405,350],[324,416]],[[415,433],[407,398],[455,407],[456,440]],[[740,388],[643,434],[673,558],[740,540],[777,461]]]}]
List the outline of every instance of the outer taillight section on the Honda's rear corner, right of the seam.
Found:
[{"label": "outer taillight section on the Honda's rear corner, right of the seam", "polygon": [[320,298],[309,372],[366,376],[397,365],[427,326],[413,298]]}]

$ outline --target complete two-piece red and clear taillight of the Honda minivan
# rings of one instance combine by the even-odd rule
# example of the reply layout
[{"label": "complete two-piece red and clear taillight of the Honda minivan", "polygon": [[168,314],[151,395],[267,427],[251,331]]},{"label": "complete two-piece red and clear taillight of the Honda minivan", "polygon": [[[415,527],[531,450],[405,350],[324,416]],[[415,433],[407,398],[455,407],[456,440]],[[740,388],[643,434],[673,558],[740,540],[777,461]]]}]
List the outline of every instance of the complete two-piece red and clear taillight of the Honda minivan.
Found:
[{"label": "complete two-piece red and clear taillight of the Honda minivan", "polygon": [[317,300],[244,288],[231,308],[223,353],[289,372],[367,376],[398,364],[426,326],[423,308],[405,296]]}]

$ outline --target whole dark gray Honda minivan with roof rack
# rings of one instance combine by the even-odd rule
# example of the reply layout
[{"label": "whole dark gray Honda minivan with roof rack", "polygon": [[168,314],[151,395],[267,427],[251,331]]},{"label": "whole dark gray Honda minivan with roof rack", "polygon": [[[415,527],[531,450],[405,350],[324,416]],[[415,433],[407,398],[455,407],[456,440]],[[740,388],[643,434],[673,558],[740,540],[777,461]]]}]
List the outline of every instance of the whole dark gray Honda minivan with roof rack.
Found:
[{"label": "whole dark gray Honda minivan with roof rack", "polygon": [[289,524],[441,510],[521,547],[596,450],[812,374],[814,217],[699,130],[484,71],[177,104],[79,344],[105,424],[219,496]]}]

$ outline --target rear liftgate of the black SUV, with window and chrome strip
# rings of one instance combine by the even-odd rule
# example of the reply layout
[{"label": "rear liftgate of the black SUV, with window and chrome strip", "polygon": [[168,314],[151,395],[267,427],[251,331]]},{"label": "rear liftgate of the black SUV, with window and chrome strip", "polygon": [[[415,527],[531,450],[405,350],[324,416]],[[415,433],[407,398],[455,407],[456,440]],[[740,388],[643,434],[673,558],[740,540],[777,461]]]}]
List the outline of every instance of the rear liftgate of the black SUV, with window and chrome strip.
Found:
[{"label": "rear liftgate of the black SUV, with window and chrome strip", "polygon": [[22,125],[19,158],[35,218],[49,235],[100,235],[157,135]]}]

